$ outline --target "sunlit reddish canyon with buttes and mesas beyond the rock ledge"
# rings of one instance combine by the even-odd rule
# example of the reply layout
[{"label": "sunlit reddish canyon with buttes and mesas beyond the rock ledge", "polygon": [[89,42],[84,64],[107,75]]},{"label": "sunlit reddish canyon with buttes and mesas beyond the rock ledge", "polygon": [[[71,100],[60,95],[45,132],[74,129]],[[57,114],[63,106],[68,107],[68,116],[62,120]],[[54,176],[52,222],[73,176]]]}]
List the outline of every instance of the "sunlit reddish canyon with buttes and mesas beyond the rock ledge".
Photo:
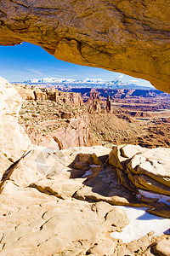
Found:
[{"label": "sunlit reddish canyon with buttes and mesas beyond the rock ledge", "polygon": [[[44,86],[38,89],[14,84],[25,99],[19,122],[31,143],[58,149],[92,145],[112,148],[123,143],[146,148],[170,145],[170,96],[166,93],[90,88],[69,92]],[[57,98],[51,96],[49,100],[45,90],[49,96],[57,94]],[[35,101],[34,91],[42,93],[44,99]],[[106,111],[107,96],[111,96],[111,113]]]}]

